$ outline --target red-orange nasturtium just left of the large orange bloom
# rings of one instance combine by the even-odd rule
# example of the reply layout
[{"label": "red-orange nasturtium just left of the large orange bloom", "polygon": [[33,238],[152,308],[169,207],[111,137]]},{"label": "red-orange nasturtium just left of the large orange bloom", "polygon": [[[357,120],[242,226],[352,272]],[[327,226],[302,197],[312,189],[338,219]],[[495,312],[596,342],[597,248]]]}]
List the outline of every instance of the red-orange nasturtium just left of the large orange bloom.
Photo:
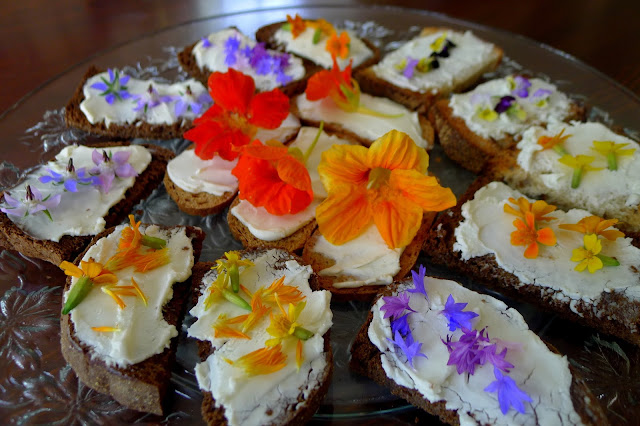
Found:
[{"label": "red-orange nasturtium just left of the large orange bloom", "polygon": [[253,141],[231,173],[238,178],[240,199],[274,215],[299,213],[313,200],[307,168],[284,145]]}]

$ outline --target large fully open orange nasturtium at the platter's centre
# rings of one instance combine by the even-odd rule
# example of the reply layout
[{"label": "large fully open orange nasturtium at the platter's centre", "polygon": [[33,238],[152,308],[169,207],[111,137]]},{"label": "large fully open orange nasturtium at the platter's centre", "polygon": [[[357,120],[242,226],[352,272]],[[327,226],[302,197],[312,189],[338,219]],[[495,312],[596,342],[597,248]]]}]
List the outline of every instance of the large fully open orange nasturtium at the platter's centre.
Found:
[{"label": "large fully open orange nasturtium at the platter's centre", "polygon": [[340,245],[375,224],[390,248],[415,237],[425,211],[456,204],[449,188],[428,176],[429,155],[405,133],[392,130],[370,148],[334,145],[318,166],[329,196],[316,209],[322,235]]}]

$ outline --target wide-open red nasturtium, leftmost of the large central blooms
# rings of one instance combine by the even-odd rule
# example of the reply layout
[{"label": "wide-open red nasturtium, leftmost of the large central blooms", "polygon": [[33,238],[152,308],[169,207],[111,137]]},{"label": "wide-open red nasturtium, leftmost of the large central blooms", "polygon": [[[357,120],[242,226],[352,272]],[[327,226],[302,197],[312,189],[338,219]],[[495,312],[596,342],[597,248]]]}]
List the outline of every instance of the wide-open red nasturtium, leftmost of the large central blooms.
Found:
[{"label": "wide-open red nasturtium, leftmost of the large central blooms", "polygon": [[234,160],[258,128],[275,129],[287,118],[289,98],[280,89],[258,94],[255,89],[253,78],[232,68],[209,76],[214,104],[184,133],[195,144],[198,157],[210,160],[217,154]]}]

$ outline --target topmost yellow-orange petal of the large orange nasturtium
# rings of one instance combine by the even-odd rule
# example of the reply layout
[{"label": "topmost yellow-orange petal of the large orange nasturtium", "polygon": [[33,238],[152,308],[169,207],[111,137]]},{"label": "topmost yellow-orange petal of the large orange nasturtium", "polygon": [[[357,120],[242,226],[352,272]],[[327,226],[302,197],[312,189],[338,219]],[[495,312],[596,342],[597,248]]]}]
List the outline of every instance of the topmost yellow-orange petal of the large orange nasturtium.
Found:
[{"label": "topmost yellow-orange petal of the large orange nasturtium", "polygon": [[367,164],[371,168],[413,169],[425,174],[429,167],[429,155],[406,133],[391,130],[371,144],[367,152]]}]

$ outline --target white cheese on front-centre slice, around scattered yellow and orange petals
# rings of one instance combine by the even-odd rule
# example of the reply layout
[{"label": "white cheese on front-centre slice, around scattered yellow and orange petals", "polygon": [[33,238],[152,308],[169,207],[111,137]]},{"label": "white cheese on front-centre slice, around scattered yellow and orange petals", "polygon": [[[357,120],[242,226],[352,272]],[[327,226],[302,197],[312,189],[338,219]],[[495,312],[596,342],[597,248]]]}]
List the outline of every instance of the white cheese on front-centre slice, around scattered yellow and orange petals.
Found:
[{"label": "white cheese on front-centre slice, around scattered yellow and orange petals", "polygon": [[[213,325],[220,314],[229,318],[246,314],[247,311],[238,306],[220,302],[205,309],[204,300],[208,291],[203,289],[198,303],[190,313],[197,321],[189,327],[188,335],[199,340],[211,342],[215,352],[205,362],[196,365],[198,385],[204,391],[213,394],[218,406],[223,406],[225,417],[230,425],[262,425],[282,423],[286,416],[285,408],[298,405],[298,395],[308,397],[311,390],[319,386],[326,367],[324,353],[324,333],[332,324],[332,313],[329,309],[331,293],[328,291],[311,291],[309,277],[311,267],[302,266],[295,260],[282,261],[287,256],[281,250],[269,250],[254,254],[250,259],[254,266],[241,268],[240,283],[253,293],[260,287],[268,287],[274,280],[285,276],[284,284],[297,286],[304,294],[306,306],[297,323],[314,333],[314,336],[303,344],[304,362],[300,370],[296,368],[296,341],[286,339],[282,343],[283,353],[287,356],[286,366],[281,370],[258,376],[247,376],[241,368],[230,365],[225,359],[237,360],[243,355],[264,347],[264,343],[272,336],[266,332],[270,323],[269,315],[265,315],[247,334],[251,339],[215,338]],[[278,268],[274,268],[276,265]],[[205,275],[203,282],[209,286],[215,279],[216,272]],[[272,313],[278,315],[278,308]],[[287,309],[287,308],[285,308]],[[304,404],[304,402],[302,403]],[[269,411],[269,413],[267,412]]]}]

